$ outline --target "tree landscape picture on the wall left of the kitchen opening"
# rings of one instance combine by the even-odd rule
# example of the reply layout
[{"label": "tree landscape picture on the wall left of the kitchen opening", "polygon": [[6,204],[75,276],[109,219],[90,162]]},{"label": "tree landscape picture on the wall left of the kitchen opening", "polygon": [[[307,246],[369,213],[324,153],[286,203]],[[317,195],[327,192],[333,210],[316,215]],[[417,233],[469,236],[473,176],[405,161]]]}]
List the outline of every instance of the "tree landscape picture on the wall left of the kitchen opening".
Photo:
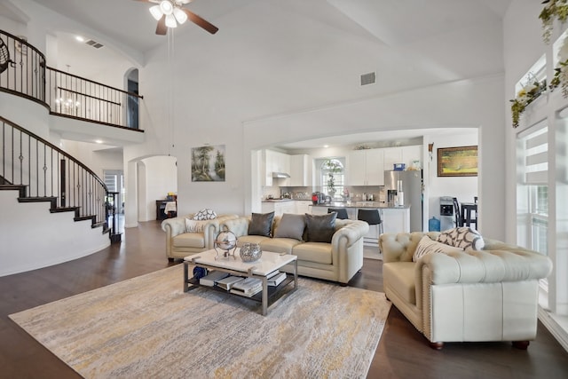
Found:
[{"label": "tree landscape picture on the wall left of the kitchen opening", "polygon": [[225,181],[225,145],[192,147],[192,182]]}]

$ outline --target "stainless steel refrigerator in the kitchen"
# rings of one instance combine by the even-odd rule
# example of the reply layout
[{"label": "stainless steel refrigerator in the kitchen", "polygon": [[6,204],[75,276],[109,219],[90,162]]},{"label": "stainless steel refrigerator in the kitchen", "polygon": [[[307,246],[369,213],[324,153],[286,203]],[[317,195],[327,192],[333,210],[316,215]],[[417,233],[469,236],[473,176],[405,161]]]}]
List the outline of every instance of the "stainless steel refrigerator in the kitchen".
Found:
[{"label": "stainless steel refrigerator in the kitchen", "polygon": [[410,232],[422,232],[422,170],[384,171],[384,189],[402,190],[404,205],[410,206]]}]

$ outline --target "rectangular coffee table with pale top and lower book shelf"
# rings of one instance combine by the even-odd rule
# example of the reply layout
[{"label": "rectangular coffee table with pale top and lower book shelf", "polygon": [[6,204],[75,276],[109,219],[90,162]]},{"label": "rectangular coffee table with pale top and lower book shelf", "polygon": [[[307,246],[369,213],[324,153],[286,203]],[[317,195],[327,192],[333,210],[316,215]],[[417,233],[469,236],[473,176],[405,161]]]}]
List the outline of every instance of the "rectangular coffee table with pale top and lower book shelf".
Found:
[{"label": "rectangular coffee table with pale top and lower book shelf", "polygon": [[[263,255],[260,259],[255,262],[247,263],[242,261],[241,256],[239,255],[239,249],[236,249],[234,251],[234,256],[231,257],[223,257],[222,252],[220,254],[217,254],[217,251],[215,249],[210,249],[184,258],[184,292],[187,292],[193,288],[201,287],[209,288],[219,292],[225,292],[231,296],[248,298],[250,300],[263,304],[262,314],[263,316],[265,316],[268,313],[269,301],[271,302],[271,304],[273,304],[276,300],[278,300],[280,298],[280,296],[278,295],[282,292],[283,288],[288,286],[288,284],[290,284],[291,282],[294,282],[294,288],[288,291],[288,294],[296,291],[296,288],[298,286],[297,262],[297,257],[290,254],[263,251]],[[278,286],[269,287],[268,275],[291,263],[294,263],[293,277],[287,275],[286,280],[282,281]],[[233,294],[232,292],[229,292],[226,289],[219,288],[217,286],[202,286],[198,279],[194,279],[193,276],[190,277],[189,265],[203,267],[208,271],[216,270],[227,272],[230,275],[235,276],[258,278],[263,282],[263,289],[256,295],[248,297],[241,296],[239,294]]]}]

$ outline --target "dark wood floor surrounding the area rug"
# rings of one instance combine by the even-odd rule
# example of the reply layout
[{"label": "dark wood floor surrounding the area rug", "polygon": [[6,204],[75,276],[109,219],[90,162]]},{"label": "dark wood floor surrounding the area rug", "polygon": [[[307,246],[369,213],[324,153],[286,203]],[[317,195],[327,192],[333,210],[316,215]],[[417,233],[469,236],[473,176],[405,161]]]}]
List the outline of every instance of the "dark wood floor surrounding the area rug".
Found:
[{"label": "dark wood floor surrounding the area rug", "polygon": [[[78,377],[8,315],[172,265],[164,245],[160,223],[146,222],[127,229],[121,244],[89,257],[0,278],[0,377]],[[382,291],[381,272],[381,261],[365,259],[350,285]],[[540,323],[527,351],[510,343],[446,343],[442,351],[434,351],[394,306],[368,374],[382,379],[566,377],[568,353]]]}]

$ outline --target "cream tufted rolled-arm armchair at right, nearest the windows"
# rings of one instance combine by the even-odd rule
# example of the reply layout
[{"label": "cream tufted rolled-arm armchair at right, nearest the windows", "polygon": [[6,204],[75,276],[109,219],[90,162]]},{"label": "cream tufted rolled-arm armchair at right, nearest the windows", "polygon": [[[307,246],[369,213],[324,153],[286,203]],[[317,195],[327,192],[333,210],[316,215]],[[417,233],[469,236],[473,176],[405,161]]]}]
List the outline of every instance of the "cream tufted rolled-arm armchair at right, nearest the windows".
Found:
[{"label": "cream tufted rolled-arm armchair at right, nearest the windows", "polygon": [[548,257],[485,239],[482,250],[430,253],[413,262],[422,236],[384,233],[386,296],[430,341],[512,341],[524,348],[536,336],[539,280],[552,270]]}]

